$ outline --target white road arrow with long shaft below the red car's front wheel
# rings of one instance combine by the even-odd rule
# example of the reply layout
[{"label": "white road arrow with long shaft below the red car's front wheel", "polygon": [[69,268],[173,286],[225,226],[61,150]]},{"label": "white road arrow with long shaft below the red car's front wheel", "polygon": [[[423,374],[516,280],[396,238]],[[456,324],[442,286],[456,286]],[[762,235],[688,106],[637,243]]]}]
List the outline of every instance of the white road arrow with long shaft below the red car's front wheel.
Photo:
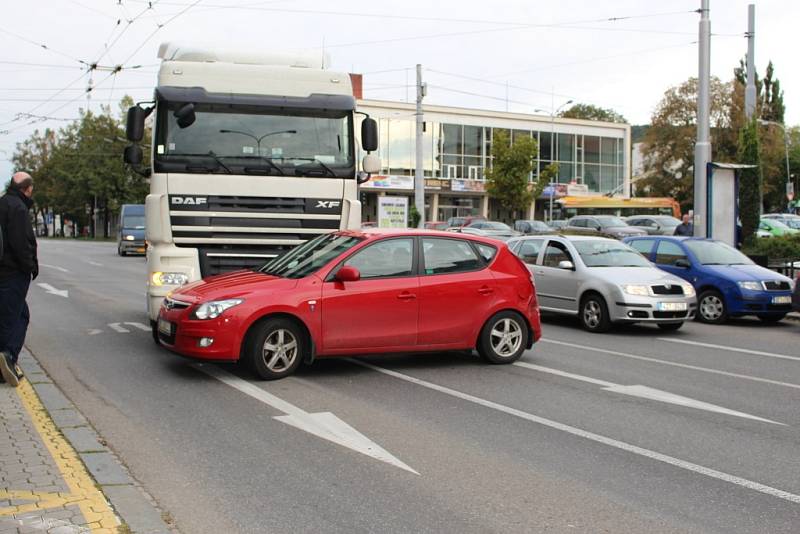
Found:
[{"label": "white road arrow with long shaft below the red car's front wheel", "polygon": [[250,397],[257,399],[264,404],[272,406],[276,410],[285,413],[286,415],[274,417],[274,419],[277,419],[282,423],[291,425],[319,438],[332,441],[333,443],[341,445],[342,447],[347,447],[348,449],[360,452],[361,454],[369,456],[370,458],[374,458],[375,460],[386,462],[387,464],[399,467],[400,469],[414,473],[415,475],[419,475],[419,473],[411,469],[399,459],[392,456],[380,445],[374,441],[371,441],[358,430],[348,425],[330,412],[308,413],[301,408],[286,402],[280,397],[276,397],[266,390],[263,390],[260,387],[239,378],[238,376],[223,371],[219,367],[196,364],[195,368],[209,376],[216,378],[220,382],[223,382],[224,384],[241,391],[245,395],[249,395]]}]

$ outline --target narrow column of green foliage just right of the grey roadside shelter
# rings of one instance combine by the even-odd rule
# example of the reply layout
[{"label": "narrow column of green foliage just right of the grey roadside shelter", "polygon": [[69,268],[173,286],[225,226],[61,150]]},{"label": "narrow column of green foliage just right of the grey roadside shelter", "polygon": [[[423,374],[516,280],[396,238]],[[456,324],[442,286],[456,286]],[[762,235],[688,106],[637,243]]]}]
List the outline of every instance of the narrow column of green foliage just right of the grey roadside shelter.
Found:
[{"label": "narrow column of green foliage just right of the grey roadside shelter", "polygon": [[750,245],[755,239],[761,217],[761,147],[758,120],[754,117],[739,132],[739,162],[755,165],[739,174],[739,214],[742,219],[742,240]]}]

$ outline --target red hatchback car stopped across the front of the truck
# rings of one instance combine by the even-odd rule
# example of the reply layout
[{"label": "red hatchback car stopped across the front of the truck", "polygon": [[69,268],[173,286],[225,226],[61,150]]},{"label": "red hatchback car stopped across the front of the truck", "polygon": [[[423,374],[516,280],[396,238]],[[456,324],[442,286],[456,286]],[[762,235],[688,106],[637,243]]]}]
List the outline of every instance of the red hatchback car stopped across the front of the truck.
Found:
[{"label": "red hatchback car stopped across the front of the truck", "polygon": [[355,354],[477,349],[511,363],[541,337],[530,273],[505,245],[425,230],[319,236],[172,292],[157,328],[174,352],[244,359],[263,379]]}]

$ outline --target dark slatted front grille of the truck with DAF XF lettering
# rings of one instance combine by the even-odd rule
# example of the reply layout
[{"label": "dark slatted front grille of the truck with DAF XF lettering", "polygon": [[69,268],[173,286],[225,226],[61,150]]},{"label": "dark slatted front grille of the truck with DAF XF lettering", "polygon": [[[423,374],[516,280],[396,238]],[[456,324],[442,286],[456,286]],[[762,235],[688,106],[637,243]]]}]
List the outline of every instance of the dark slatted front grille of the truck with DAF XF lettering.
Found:
[{"label": "dark slatted front grille of the truck with DAF XF lettering", "polygon": [[203,277],[252,269],[338,230],[341,199],[170,195],[178,247],[197,248]]}]

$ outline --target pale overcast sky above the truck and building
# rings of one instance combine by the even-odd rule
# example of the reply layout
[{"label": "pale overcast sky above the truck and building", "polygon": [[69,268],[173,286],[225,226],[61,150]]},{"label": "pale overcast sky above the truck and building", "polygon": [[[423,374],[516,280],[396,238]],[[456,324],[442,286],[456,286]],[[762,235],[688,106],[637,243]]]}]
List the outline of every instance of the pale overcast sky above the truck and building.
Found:
[{"label": "pale overcast sky above the truck and building", "polygon": [[[747,50],[756,4],[756,65],[771,59],[787,122],[800,122],[797,21],[792,0],[712,0],[711,72],[723,80]],[[16,142],[91,103],[152,95],[161,42],[330,54],[337,70],[365,74],[365,96],[413,99],[414,65],[426,102],[549,113],[567,100],[649,122],[664,91],[697,75],[700,0],[26,0],[0,18],[0,176]],[[151,8],[148,8],[152,5]],[[609,20],[618,19],[618,20]],[[119,21],[119,22],[118,22]],[[43,46],[46,46],[46,49]],[[85,62],[85,63],[81,63]],[[104,67],[122,65],[118,74]],[[8,133],[5,133],[8,131]],[[3,180],[4,181],[4,180]]]}]

